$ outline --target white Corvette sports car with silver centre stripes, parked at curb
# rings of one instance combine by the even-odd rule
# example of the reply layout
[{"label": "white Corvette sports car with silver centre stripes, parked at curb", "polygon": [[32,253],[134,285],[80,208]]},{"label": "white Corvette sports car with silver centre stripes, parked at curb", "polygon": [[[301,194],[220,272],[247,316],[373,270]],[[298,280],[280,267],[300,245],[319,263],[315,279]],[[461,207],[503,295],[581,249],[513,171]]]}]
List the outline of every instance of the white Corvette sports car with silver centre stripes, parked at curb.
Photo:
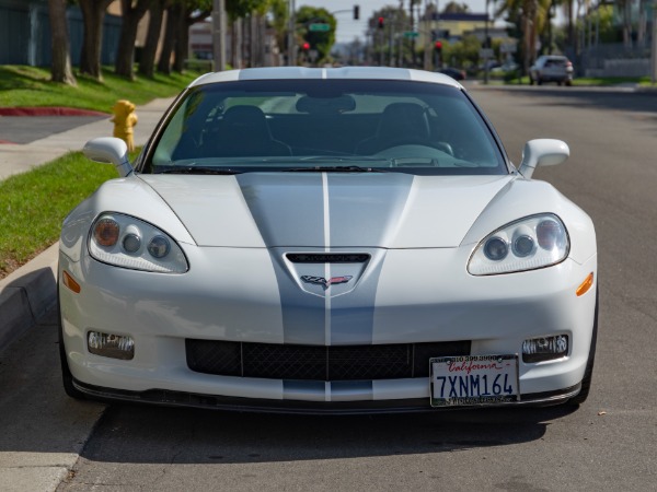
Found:
[{"label": "white Corvette sports car with silver centre stripes, parked at curb", "polygon": [[589,216],[516,168],[453,79],[211,73],[60,241],[74,398],[355,413],[580,403],[597,333]]}]

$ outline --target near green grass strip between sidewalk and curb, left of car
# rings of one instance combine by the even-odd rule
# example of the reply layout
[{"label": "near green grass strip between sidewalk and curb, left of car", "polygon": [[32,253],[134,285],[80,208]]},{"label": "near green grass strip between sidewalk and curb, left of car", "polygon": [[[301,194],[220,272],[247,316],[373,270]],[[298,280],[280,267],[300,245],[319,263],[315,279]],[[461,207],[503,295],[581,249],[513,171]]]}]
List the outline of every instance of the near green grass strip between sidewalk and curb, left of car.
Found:
[{"label": "near green grass strip between sidewalk and curb, left of car", "polygon": [[59,238],[64,218],[103,181],[114,166],[71,152],[0,181],[0,279]]}]

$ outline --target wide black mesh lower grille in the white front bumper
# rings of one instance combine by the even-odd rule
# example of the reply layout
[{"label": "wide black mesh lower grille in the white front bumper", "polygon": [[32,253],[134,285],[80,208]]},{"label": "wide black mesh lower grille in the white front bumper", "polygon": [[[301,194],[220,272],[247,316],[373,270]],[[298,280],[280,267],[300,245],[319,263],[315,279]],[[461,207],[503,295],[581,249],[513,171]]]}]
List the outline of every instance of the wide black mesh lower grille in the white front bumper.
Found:
[{"label": "wide black mesh lower grille in the white front bumper", "polygon": [[187,339],[185,348],[197,373],[301,380],[428,377],[430,358],[470,355],[470,341],[323,347]]}]

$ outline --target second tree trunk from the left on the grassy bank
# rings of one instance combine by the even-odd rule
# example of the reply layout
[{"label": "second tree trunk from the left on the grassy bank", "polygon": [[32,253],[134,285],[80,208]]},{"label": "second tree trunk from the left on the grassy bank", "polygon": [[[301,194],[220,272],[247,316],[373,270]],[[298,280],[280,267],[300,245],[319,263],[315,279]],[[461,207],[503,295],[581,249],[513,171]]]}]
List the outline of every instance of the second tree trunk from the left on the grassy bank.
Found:
[{"label": "second tree trunk from the left on the grassy bank", "polygon": [[80,0],[83,34],[80,54],[80,73],[102,80],[101,49],[103,43],[103,17],[112,0]]}]

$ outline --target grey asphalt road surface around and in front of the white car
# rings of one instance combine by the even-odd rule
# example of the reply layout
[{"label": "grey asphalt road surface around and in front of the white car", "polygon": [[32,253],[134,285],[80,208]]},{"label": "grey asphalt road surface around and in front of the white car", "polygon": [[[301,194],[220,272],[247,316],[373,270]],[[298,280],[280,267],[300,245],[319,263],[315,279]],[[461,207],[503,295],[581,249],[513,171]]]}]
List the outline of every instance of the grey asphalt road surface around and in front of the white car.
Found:
[{"label": "grey asphalt road surface around and in front of the white car", "polygon": [[12,382],[0,452],[44,467],[79,453],[60,491],[657,490],[657,95],[533,89],[472,94],[516,163],[531,138],[570,144],[568,162],[534,177],[597,226],[598,353],[577,411],[327,418],[112,405],[96,424],[102,406],[58,388],[50,316],[0,354],[0,382]]}]

